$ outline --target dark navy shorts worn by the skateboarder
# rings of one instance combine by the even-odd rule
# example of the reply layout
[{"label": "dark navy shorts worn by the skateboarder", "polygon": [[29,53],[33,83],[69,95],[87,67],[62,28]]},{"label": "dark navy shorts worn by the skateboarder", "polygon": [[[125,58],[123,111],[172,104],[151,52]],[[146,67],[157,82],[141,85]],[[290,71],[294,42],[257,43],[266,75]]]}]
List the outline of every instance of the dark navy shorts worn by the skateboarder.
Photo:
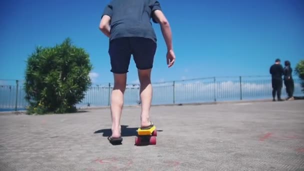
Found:
[{"label": "dark navy shorts worn by the skateboarder", "polygon": [[156,51],[156,43],[150,38],[122,37],[109,42],[111,72],[126,73],[131,54],[137,69],[150,69]]}]

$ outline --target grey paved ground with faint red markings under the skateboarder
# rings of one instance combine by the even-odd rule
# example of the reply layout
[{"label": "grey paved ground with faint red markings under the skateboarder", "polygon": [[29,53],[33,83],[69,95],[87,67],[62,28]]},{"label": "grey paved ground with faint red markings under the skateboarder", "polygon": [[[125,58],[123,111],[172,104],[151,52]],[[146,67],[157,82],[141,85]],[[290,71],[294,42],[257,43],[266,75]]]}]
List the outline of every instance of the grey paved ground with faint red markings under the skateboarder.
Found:
[{"label": "grey paved ground with faint red markings under the skateboarder", "polygon": [[154,106],[157,144],[134,146],[140,108],[111,145],[108,109],[0,115],[0,170],[304,170],[304,101]]}]

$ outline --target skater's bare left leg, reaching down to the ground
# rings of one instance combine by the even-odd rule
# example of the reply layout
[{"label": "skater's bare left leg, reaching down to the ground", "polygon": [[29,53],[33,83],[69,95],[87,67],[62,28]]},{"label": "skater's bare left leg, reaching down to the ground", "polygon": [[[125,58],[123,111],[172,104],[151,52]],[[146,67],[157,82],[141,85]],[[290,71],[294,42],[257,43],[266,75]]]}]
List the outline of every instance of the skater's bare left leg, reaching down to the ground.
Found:
[{"label": "skater's bare left leg, reaching down to the ground", "polygon": [[120,136],[120,116],[123,107],[123,93],[126,85],[126,73],[114,73],[114,87],[111,95],[112,137]]}]

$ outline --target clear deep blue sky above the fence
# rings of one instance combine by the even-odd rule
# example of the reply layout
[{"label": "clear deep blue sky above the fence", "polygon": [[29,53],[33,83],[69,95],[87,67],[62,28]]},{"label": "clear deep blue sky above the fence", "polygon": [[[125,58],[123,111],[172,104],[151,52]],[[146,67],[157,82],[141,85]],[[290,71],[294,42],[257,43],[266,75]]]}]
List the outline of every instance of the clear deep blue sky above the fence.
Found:
[{"label": "clear deep blue sky above the fence", "polygon": [[[0,79],[23,79],[36,45],[70,37],[93,64],[95,83],[112,82],[108,39],[98,29],[109,0],[1,0]],[[159,25],[152,81],[268,75],[279,57],[304,59],[304,0],[159,0],[173,33],[176,63],[166,65]],[[172,3],[174,2],[174,3]],[[131,59],[127,82],[136,82]]]}]

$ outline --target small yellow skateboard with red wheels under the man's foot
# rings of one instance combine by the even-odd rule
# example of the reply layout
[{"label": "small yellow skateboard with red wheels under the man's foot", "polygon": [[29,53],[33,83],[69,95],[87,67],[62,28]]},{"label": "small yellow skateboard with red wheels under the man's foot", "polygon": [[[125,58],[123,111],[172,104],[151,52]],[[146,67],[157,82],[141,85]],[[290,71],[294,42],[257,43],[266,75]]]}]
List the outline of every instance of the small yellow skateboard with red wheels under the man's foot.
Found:
[{"label": "small yellow skateboard with red wheels under the man's foot", "polygon": [[137,136],[135,137],[135,145],[155,145],[157,130],[153,125],[148,129],[137,129]]}]

